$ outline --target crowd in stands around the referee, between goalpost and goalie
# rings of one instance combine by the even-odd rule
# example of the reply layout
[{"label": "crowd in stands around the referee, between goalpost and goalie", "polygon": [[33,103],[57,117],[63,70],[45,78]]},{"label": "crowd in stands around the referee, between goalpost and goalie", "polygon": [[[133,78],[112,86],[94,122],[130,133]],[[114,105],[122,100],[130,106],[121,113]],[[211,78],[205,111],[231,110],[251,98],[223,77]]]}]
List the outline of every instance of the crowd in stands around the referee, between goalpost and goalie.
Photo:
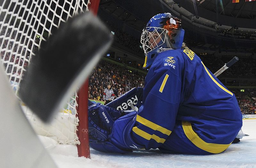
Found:
[{"label": "crowd in stands around the referee, between goalpost and goalie", "polygon": [[103,91],[108,83],[111,84],[115,98],[120,97],[134,87],[143,87],[144,79],[145,75],[138,71],[101,60],[89,77],[88,98],[103,101]]}]

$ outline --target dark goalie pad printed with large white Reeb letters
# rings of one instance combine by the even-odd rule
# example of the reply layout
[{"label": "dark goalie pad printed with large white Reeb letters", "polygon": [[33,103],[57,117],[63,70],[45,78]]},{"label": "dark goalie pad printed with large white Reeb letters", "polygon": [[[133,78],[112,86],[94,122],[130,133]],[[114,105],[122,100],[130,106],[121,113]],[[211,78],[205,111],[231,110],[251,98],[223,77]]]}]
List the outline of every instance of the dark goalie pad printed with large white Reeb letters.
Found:
[{"label": "dark goalie pad printed with large white Reeb letters", "polygon": [[115,108],[117,110],[132,110],[130,103],[133,104],[137,110],[140,108],[142,103],[143,88],[133,88],[129,92],[126,92],[119,98],[111,101],[106,106]]}]

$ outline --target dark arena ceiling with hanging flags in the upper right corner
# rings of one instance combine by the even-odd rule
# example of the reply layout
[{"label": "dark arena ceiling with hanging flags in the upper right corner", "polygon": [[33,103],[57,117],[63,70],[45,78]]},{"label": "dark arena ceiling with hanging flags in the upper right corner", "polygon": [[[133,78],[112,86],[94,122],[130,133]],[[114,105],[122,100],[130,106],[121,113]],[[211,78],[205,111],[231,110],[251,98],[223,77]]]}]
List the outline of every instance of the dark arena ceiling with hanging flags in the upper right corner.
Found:
[{"label": "dark arena ceiling with hanging flags in the upper right corner", "polygon": [[[162,1],[162,0],[161,0]],[[256,29],[256,2],[231,3],[231,0],[163,0],[168,6],[178,4],[191,12],[216,23],[239,28]]]}]

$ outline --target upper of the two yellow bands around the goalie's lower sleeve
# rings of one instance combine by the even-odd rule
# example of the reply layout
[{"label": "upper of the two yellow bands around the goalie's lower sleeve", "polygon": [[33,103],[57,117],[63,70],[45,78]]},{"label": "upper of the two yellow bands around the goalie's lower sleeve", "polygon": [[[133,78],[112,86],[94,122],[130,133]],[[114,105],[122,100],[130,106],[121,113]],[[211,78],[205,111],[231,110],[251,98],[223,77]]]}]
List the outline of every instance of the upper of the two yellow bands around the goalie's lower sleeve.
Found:
[{"label": "upper of the two yellow bands around the goalie's lower sleeve", "polygon": [[165,135],[169,136],[172,133],[172,131],[167,130],[166,128],[161,127],[160,125],[157,125],[157,124],[155,124],[155,123],[153,123],[153,122],[151,122],[151,121],[147,120],[146,118],[143,118],[139,115],[137,115],[136,121],[138,121],[139,123],[151,128],[152,130],[162,132]]}]

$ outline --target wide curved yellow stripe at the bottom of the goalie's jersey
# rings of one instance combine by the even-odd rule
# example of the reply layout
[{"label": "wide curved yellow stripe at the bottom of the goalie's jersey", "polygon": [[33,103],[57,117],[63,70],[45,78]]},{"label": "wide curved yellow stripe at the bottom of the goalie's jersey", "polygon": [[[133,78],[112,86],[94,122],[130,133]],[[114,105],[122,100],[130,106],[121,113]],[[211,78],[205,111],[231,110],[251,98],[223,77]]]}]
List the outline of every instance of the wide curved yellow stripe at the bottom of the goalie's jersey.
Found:
[{"label": "wide curved yellow stripe at the bottom of the goalie's jersey", "polygon": [[182,127],[183,130],[188,137],[188,139],[196,145],[198,148],[203,149],[204,151],[210,152],[210,153],[220,153],[226,150],[230,144],[215,144],[215,143],[207,143],[204,140],[202,140],[196,132],[192,129],[192,126],[187,121],[182,121]]}]

